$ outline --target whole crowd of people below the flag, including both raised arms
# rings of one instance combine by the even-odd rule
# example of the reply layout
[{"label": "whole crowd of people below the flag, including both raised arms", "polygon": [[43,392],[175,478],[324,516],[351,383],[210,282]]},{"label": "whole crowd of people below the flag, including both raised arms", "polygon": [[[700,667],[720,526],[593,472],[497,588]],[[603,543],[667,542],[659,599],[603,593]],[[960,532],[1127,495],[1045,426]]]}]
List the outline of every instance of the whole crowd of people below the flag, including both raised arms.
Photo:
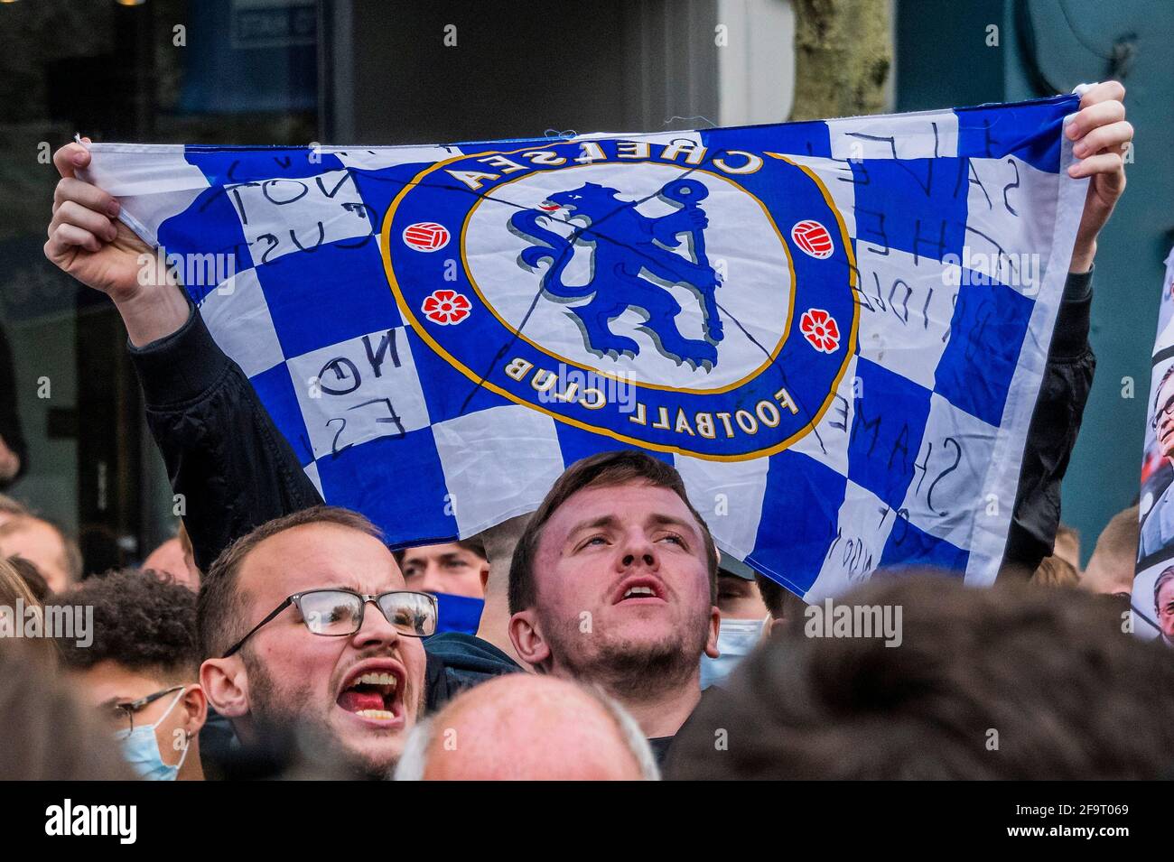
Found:
[{"label": "whole crowd of people below the flag, including both raised arms", "polygon": [[[62,148],[46,253],[119,308],[188,511],[141,569],[99,573],[0,501],[0,605],[93,615],[88,643],[0,638],[0,724],[28,740],[0,776],[1168,775],[1174,663],[1129,633],[1136,510],[1085,569],[1059,523],[1122,97],[1094,88],[1067,127],[1092,182],[998,582],[882,570],[838,599],[897,609],[897,643],[812,625],[824,608],[721,555],[674,467],[639,449],[572,464],[480,536],[392,551],[324,504],[190,299],[141,278],[117,201],[76,176],[86,148]],[[478,613],[453,623],[461,600]]]}]

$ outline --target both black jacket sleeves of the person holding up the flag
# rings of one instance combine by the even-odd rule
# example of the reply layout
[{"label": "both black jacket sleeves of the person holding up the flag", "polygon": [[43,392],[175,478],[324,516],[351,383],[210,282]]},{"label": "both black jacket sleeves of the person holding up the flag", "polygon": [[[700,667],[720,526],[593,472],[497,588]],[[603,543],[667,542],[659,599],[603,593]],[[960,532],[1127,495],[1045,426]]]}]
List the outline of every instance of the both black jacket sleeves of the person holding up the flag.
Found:
[{"label": "both black jacket sleeves of the person holding up the flag", "polygon": [[[1092,273],[1070,276],[1032,414],[1004,566],[1034,571],[1052,552],[1060,480],[1068,468],[1097,360],[1088,345]],[[200,313],[167,338],[129,347],[147,422],[163,454],[196,564],[205,570],[235,538],[322,503],[292,448]]]}]

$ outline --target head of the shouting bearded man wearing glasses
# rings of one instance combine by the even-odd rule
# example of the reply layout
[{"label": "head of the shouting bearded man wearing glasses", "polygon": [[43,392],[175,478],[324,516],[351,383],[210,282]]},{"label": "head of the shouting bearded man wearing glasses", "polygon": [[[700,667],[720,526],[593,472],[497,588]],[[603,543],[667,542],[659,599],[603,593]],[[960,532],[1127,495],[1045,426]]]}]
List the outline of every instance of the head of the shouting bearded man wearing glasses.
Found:
[{"label": "head of the shouting bearded man wearing glasses", "polygon": [[296,727],[337,744],[357,771],[386,773],[424,699],[424,645],[407,632],[434,624],[432,599],[391,597],[393,625],[353,596],[304,595],[321,590],[405,590],[394,557],[362,515],[305,509],[230,545],[200,591],[204,691],[247,740],[265,727]]}]

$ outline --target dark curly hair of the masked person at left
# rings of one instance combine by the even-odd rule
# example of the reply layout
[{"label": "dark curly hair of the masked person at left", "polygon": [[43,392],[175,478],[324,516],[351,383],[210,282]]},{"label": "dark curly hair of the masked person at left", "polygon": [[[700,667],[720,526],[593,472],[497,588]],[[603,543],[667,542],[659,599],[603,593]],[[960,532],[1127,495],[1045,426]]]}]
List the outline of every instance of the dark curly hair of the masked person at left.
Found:
[{"label": "dark curly hair of the masked person at left", "polygon": [[62,660],[73,670],[114,661],[129,670],[191,677],[202,657],[196,639],[196,596],[156,572],[137,569],[87,578],[69,591],[74,605],[94,609],[94,643],[62,640]]}]

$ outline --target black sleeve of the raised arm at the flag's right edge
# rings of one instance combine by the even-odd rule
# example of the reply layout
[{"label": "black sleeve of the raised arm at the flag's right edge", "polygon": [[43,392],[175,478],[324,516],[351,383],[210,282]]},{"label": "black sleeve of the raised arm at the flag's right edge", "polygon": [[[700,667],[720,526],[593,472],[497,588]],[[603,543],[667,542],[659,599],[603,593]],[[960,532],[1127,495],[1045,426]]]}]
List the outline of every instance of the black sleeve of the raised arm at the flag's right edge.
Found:
[{"label": "black sleeve of the raised arm at the flag's right edge", "polygon": [[1092,271],[1070,274],[1027,430],[1019,489],[1003,555],[1004,575],[1027,577],[1052,552],[1060,525],[1060,480],[1068,469],[1093,385],[1088,344]]}]

